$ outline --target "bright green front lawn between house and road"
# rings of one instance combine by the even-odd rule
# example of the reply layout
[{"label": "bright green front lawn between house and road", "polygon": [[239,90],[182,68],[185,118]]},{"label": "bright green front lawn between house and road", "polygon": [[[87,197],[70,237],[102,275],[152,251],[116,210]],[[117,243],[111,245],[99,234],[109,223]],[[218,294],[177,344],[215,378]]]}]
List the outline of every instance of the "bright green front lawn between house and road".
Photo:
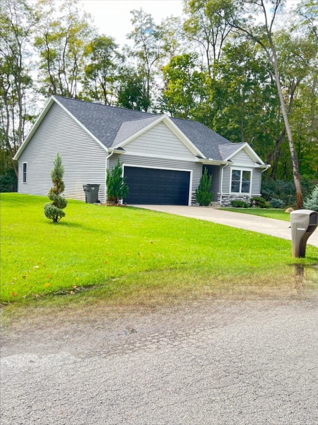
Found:
[{"label": "bright green front lawn between house and road", "polygon": [[56,224],[43,214],[45,200],[1,194],[2,304],[156,305],[318,289],[318,249],[310,245],[295,259],[291,242],[279,238],[74,200]]}]

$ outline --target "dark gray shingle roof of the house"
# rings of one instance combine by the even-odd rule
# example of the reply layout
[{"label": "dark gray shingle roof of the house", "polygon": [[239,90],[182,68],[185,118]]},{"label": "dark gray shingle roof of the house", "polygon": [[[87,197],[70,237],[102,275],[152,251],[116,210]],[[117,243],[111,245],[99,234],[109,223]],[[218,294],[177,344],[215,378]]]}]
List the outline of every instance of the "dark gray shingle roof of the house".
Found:
[{"label": "dark gray shingle roof of the house", "polygon": [[[115,146],[159,117],[148,112],[54,97],[107,148]],[[238,149],[238,144],[232,144],[198,121],[180,118],[171,120],[208,159],[223,161],[227,158],[230,154],[227,155],[228,148],[224,145],[233,146],[234,151]]]}]

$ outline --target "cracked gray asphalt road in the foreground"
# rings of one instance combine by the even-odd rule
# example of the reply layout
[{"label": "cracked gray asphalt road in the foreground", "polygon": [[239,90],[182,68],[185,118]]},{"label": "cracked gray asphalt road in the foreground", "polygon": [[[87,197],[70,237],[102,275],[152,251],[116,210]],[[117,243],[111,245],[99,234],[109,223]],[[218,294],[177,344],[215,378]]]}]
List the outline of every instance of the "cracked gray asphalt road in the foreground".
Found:
[{"label": "cracked gray asphalt road in the foreground", "polygon": [[318,302],[197,302],[4,333],[1,425],[318,424]]}]

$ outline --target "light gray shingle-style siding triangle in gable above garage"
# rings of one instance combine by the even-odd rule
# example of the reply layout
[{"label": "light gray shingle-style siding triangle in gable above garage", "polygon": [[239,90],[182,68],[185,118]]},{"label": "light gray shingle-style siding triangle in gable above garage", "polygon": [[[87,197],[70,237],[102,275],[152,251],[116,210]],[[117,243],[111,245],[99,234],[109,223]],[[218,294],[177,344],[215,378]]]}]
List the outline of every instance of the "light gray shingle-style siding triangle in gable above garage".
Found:
[{"label": "light gray shingle-style siding triangle in gable above garage", "polygon": [[195,158],[163,122],[129,142],[124,149],[136,154],[164,155],[185,160]]}]

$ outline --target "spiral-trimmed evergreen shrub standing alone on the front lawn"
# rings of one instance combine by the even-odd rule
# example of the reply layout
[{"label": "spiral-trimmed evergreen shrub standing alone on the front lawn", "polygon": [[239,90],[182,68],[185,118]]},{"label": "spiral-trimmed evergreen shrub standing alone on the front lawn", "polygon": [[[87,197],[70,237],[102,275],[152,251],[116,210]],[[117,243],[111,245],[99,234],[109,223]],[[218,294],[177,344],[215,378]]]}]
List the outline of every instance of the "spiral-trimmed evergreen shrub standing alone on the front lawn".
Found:
[{"label": "spiral-trimmed evergreen shrub standing alone on the front lawn", "polygon": [[64,192],[65,184],[63,181],[64,167],[62,165],[62,158],[60,154],[57,153],[54,160],[54,168],[51,170],[51,178],[53,182],[53,187],[48,192],[48,197],[52,201],[47,202],[44,205],[44,214],[45,216],[53,220],[53,222],[58,223],[62,217],[65,217],[65,212],[63,209],[67,206],[68,201],[61,193]]}]

